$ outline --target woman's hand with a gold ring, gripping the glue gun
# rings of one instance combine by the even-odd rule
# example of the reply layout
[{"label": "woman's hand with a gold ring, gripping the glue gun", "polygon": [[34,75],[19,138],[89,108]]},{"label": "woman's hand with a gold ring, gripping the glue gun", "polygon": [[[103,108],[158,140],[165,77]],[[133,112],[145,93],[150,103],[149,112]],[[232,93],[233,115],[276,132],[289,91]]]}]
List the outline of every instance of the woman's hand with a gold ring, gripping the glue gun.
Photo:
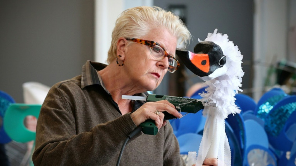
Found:
[{"label": "woman's hand with a gold ring, gripping the glue gun", "polygon": [[[160,111],[159,115],[155,114],[156,110]],[[167,111],[179,118],[182,117],[182,114],[176,110],[172,103],[167,100],[160,100],[157,102],[146,102],[131,114],[131,118],[137,126],[147,119],[152,119],[155,121],[155,126],[157,126],[158,130],[160,130],[162,126],[166,125],[166,121],[164,121],[165,115],[162,113],[163,111]]]}]

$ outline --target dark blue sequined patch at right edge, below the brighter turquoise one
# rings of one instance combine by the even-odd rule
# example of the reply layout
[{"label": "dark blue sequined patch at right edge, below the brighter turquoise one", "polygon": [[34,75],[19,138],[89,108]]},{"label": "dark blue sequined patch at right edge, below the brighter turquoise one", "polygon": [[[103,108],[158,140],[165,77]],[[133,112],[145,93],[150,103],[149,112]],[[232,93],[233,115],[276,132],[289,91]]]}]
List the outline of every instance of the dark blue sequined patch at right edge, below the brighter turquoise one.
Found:
[{"label": "dark blue sequined patch at right edge, below the brighter turquoise one", "polygon": [[278,136],[289,116],[296,110],[296,102],[283,105],[272,111],[265,119],[265,131],[269,135]]}]

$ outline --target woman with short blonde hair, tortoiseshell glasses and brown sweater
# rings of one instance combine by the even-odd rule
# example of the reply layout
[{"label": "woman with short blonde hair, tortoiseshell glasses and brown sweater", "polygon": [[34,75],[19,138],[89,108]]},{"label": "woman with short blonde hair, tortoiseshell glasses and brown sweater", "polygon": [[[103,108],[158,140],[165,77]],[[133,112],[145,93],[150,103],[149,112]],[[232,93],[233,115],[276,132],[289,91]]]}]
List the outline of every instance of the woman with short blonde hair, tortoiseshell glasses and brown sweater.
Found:
[{"label": "woman with short blonde hair, tortoiseshell glasses and brown sweater", "polygon": [[122,95],[146,96],[154,90],[167,71],[179,67],[177,41],[189,39],[179,18],[159,7],[122,12],[112,33],[109,65],[87,61],[81,75],[50,89],[37,123],[34,164],[114,166],[127,135],[152,119],[157,135],[135,135],[120,164],[184,165],[172,127],[163,120],[163,111],[181,117],[174,105]]}]

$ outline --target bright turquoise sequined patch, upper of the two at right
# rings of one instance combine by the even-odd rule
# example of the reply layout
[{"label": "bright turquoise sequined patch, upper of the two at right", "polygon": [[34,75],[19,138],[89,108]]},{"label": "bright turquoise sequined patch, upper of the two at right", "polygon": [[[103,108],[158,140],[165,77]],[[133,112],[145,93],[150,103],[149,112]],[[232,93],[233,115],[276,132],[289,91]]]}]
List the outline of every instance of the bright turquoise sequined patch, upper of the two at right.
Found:
[{"label": "bright turquoise sequined patch, upper of the two at right", "polygon": [[281,94],[268,98],[263,104],[259,106],[257,116],[265,120],[267,114],[270,112],[270,110],[272,110],[275,104],[277,104],[282,98],[286,96],[287,94]]}]

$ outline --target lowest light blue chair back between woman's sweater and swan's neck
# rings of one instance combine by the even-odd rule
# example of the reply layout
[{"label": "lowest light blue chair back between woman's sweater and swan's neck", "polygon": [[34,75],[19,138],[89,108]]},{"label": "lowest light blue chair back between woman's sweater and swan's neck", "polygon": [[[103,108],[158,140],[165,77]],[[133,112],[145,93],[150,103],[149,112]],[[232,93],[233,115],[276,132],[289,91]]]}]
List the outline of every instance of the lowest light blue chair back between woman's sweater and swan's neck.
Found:
[{"label": "lowest light blue chair back between woman's sweater and swan's neck", "polygon": [[188,154],[188,152],[198,152],[202,135],[196,133],[187,133],[177,137],[180,146],[180,154]]}]

